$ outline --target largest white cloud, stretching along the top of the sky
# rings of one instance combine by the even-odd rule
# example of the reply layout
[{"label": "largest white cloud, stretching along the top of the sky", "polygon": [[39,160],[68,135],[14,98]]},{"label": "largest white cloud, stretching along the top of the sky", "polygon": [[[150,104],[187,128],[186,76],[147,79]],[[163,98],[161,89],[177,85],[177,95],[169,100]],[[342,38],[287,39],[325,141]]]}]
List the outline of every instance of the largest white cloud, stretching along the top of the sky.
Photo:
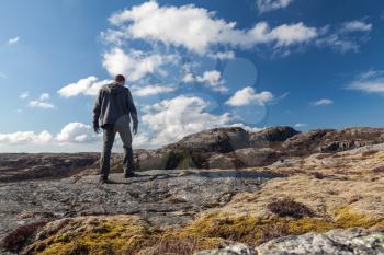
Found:
[{"label": "largest white cloud, stretching along the top of the sky", "polygon": [[110,21],[117,26],[117,31],[109,31],[110,37],[113,37],[106,38],[109,42],[116,42],[118,36],[122,39],[161,42],[183,46],[201,55],[218,44],[235,47],[272,44],[274,47],[287,47],[310,42],[317,36],[316,28],[307,27],[302,22],[274,28],[260,22],[250,30],[238,30],[235,22],[217,19],[215,13],[206,9],[193,4],[159,7],[156,1],[117,12]]}]

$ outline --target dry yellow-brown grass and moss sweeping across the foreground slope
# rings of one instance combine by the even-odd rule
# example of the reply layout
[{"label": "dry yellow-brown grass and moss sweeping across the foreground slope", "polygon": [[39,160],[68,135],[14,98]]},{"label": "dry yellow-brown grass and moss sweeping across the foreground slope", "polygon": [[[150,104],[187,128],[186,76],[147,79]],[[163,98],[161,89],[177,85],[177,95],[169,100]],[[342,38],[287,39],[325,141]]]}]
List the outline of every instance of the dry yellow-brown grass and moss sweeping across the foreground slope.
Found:
[{"label": "dry yellow-brown grass and moss sweeping across the foreground slope", "polygon": [[270,166],[290,176],[237,194],[183,227],[161,229],[134,216],[78,217],[22,227],[4,244],[18,252],[35,239],[24,251],[43,255],[188,255],[229,241],[258,245],[336,228],[384,230],[383,160],[384,152],[375,151],[308,157],[296,174],[295,166]]}]

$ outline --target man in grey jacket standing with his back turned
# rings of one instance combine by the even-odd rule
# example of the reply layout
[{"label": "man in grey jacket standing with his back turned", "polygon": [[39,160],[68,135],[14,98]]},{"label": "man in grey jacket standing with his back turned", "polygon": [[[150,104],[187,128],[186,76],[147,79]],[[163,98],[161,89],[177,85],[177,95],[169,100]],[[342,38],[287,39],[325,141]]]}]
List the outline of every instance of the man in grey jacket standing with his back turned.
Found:
[{"label": "man in grey jacket standing with his back turned", "polygon": [[[100,159],[100,183],[109,183],[110,160],[113,142],[118,132],[124,148],[124,176],[133,177],[135,172],[134,155],[132,150],[132,135],[129,129],[129,115],[133,121],[133,134],[137,134],[137,112],[131,92],[124,86],[125,78],[122,74],[115,77],[114,82],[103,85],[93,107],[93,129],[100,132],[103,129],[103,151]],[[99,126],[99,118],[101,126]]]}]

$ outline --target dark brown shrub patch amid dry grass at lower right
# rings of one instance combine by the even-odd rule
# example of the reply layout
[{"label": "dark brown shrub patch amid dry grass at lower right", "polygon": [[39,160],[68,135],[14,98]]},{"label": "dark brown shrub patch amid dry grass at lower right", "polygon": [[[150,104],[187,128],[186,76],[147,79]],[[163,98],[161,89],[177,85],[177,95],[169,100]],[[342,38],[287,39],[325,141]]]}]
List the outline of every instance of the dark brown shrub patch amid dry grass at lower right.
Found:
[{"label": "dark brown shrub patch amid dry grass at lower right", "polygon": [[272,200],[267,207],[270,211],[280,217],[293,217],[298,219],[305,216],[312,217],[315,215],[307,206],[297,202],[292,198]]}]

